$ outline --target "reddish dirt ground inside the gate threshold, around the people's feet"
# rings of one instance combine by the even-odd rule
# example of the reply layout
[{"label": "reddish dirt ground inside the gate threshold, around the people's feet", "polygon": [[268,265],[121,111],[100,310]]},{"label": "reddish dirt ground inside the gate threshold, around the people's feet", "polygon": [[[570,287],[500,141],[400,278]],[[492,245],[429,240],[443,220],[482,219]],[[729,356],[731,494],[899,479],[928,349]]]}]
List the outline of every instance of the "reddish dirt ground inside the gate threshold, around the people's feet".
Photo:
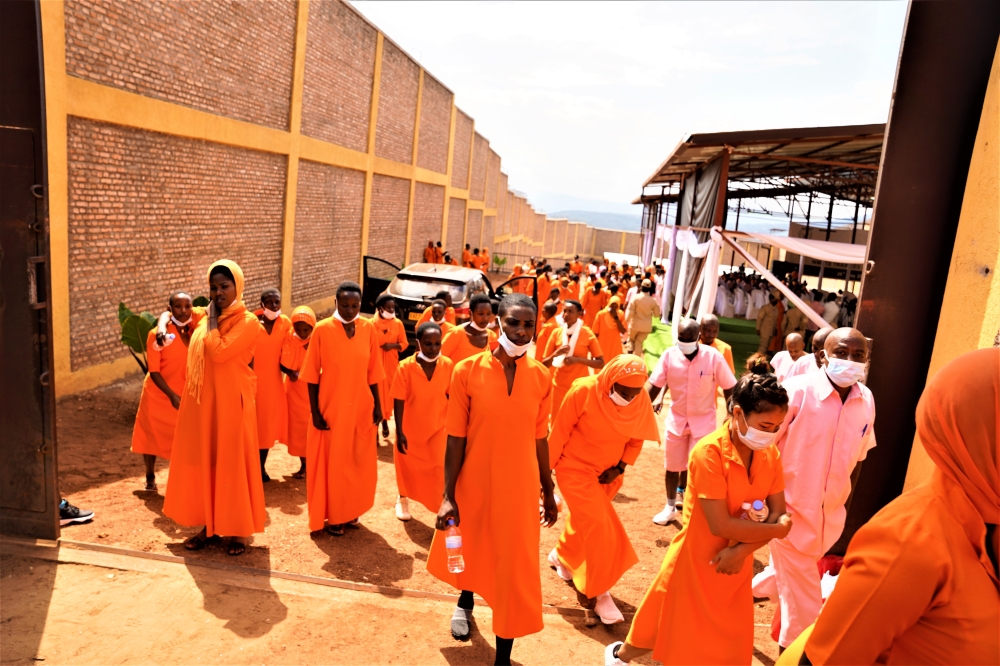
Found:
[{"label": "reddish dirt ground inside the gate threshold, around the people's feet", "polygon": [[[267,462],[272,480],[264,486],[268,512],[265,532],[254,536],[251,547],[239,558],[229,557],[222,546],[210,546],[197,553],[184,550],[181,542],[197,530],[180,527],[163,515],[169,463],[157,463],[160,490],[147,493],[143,491],[142,457],[129,451],[140,390],[141,383],[135,379],[60,401],[57,414],[60,489],[71,503],[96,512],[92,523],[65,528],[63,538],[169,553],[193,563],[208,560],[386,587],[454,593],[426,571],[434,514],[412,503],[413,520],[403,523],[395,517],[394,447],[391,440],[381,438],[375,506],[361,517],[360,529],[349,530],[340,538],[310,534],[305,481],[291,478],[298,469],[298,460],[289,456],[283,445],[277,445]],[[616,603],[626,614],[633,612],[641,601],[679,528],[675,524],[660,527],[651,521],[663,507],[662,456],[662,445],[647,442],[614,500],[640,560],[612,590]],[[561,517],[555,527],[542,530],[539,561],[543,602],[577,609],[592,606],[545,563],[546,555],[558,541],[562,522]],[[766,549],[758,551],[755,571],[766,561]],[[758,604],[755,616],[756,623],[761,625],[755,658],[764,664],[773,663],[777,645],[763,630],[773,616],[772,604]],[[547,660],[551,662],[552,655]]]}]

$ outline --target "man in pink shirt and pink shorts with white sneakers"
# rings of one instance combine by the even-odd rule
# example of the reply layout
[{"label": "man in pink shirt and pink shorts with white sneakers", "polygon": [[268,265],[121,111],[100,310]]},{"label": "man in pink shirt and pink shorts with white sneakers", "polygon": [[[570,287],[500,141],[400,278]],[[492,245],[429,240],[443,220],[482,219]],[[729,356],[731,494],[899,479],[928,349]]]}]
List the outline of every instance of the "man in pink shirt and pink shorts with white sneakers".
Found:
[{"label": "man in pink shirt and pink shorts with white sneakers", "polygon": [[[657,525],[677,518],[677,502],[684,506],[687,486],[687,461],[691,449],[702,437],[716,428],[715,395],[721,388],[729,400],[736,377],[726,358],[713,347],[698,342],[701,326],[694,319],[684,319],[677,327],[677,344],[663,352],[649,377],[649,398],[656,404],[660,390],[670,390],[670,412],[666,419],[664,464],[666,468],[667,505],[653,516]],[[662,403],[656,404],[660,411]],[[678,498],[680,493],[680,498]]]}]

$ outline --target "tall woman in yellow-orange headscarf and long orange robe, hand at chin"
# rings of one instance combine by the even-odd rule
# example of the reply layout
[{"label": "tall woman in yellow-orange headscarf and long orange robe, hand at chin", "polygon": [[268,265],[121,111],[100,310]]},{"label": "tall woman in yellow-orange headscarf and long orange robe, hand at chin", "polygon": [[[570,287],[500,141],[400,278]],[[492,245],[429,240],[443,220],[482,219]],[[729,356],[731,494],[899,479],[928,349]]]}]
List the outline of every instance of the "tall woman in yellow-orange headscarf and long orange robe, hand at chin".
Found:
[{"label": "tall woman in yellow-orange headscarf and long orange robe, hand at chin", "polygon": [[208,279],[212,303],[188,347],[163,513],[181,525],[205,526],[184,542],[188,550],[218,534],[232,537],[229,554],[239,555],[267,517],[250,369],[260,324],[243,304],[236,262],[215,262]]}]

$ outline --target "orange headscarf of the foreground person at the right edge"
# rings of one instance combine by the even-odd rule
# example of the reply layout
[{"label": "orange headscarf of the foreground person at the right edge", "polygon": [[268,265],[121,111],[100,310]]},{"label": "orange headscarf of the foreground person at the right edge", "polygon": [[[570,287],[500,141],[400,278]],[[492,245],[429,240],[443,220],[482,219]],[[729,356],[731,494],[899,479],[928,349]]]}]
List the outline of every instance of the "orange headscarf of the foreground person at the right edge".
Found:
[{"label": "orange headscarf of the foreground person at the right edge", "polygon": [[1000,349],[962,354],[927,382],[917,433],[938,471],[962,487],[987,523],[1000,522]]}]

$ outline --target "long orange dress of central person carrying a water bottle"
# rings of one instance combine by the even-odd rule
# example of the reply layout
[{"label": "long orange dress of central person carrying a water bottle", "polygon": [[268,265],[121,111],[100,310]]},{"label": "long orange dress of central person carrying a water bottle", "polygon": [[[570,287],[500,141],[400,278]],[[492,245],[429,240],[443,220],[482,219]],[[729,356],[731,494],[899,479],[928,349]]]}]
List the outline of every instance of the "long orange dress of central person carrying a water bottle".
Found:
[{"label": "long orange dress of central person carrying a water bottle", "polygon": [[503,638],[542,630],[535,440],[548,434],[552,381],[545,366],[527,355],[516,364],[510,395],[503,366],[492,354],[455,366],[446,430],[466,438],[455,488],[465,571],[448,571],[442,532],[435,531],[427,557],[432,575],[486,600],[493,633]]}]

